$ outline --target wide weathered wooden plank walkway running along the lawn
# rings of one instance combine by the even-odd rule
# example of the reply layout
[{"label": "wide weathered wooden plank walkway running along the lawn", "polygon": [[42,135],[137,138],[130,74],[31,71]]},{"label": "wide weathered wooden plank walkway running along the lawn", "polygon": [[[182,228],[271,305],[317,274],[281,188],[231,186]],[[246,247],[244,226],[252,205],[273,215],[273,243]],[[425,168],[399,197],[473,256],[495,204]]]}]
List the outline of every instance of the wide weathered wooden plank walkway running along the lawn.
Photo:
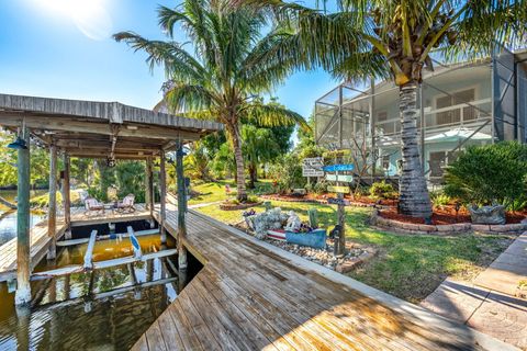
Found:
[{"label": "wide weathered wooden plank walkway running along the lawn", "polygon": [[[176,235],[175,211],[166,225]],[[184,245],[204,268],[133,350],[507,350],[350,280],[380,303],[197,213],[188,231]]]}]

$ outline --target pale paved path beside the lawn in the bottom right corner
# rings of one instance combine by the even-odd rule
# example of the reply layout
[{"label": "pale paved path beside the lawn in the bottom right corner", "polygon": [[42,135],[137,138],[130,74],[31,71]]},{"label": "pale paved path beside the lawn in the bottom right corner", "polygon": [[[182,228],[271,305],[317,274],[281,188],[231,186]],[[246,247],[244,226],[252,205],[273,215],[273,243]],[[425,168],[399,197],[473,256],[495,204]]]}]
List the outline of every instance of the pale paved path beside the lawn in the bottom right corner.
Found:
[{"label": "pale paved path beside the lawn in the bottom right corner", "polygon": [[527,299],[515,296],[522,280],[527,280],[527,233],[473,283],[447,279],[421,305],[527,350]]}]

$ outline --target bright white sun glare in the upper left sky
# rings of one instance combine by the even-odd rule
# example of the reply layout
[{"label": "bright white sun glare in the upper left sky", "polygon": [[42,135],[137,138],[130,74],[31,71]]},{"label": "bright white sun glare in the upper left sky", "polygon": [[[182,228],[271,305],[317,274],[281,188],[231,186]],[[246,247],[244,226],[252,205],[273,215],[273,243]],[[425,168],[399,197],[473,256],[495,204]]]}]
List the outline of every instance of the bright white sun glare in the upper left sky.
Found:
[{"label": "bright white sun glare in the upper left sky", "polygon": [[77,29],[94,41],[109,38],[112,19],[104,0],[34,0],[44,11],[71,20]]}]

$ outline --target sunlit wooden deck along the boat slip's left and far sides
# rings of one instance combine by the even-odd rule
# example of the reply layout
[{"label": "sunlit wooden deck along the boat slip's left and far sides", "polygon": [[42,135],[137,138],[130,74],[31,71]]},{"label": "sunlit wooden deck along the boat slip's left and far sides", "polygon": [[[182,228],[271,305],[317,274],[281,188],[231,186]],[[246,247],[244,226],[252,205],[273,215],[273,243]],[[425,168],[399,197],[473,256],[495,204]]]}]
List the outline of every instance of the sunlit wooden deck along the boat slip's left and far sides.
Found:
[{"label": "sunlit wooden deck along the boat slip's left and far sides", "polygon": [[[86,214],[85,208],[71,208],[71,226],[87,226],[101,223],[119,223],[128,220],[150,219],[150,212],[145,205],[137,204],[133,213],[117,213],[106,210],[104,214]],[[66,230],[64,217],[57,218],[57,238]],[[47,220],[36,224],[31,230],[31,262],[33,268],[44,258],[51,238],[47,236]],[[16,238],[11,239],[0,247],[0,282],[16,278]]]}]

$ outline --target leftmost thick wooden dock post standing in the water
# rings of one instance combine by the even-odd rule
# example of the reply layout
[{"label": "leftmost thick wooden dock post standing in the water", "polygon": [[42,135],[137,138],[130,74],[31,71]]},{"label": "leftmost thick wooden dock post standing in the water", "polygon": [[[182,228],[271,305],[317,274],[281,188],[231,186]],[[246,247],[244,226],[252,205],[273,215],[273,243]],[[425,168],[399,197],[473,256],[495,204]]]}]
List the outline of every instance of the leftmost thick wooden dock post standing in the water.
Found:
[{"label": "leftmost thick wooden dock post standing in the water", "polygon": [[30,133],[22,128],[26,149],[19,149],[18,158],[18,212],[16,212],[16,293],[14,303],[26,305],[31,302],[31,256],[30,256]]}]

